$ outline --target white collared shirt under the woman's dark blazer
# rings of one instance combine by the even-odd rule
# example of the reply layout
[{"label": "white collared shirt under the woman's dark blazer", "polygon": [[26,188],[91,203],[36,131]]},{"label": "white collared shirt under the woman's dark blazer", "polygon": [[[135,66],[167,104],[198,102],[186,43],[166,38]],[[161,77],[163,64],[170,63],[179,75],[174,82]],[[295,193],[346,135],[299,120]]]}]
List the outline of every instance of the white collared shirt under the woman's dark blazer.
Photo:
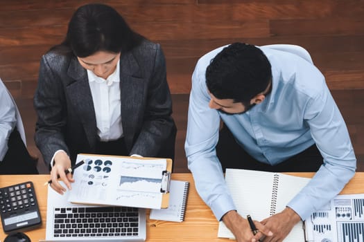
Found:
[{"label": "white collared shirt under the woman's dark blazer", "polygon": [[121,125],[120,60],[107,79],[87,70],[89,87],[96,115],[97,134],[101,141],[117,140],[123,136]]}]

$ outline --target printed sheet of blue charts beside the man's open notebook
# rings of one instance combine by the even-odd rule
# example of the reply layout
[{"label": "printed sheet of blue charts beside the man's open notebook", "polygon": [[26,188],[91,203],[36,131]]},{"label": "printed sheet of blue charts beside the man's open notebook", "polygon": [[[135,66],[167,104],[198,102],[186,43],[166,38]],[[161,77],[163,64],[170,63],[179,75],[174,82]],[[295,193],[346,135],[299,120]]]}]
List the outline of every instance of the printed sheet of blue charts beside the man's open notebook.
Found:
[{"label": "printed sheet of blue charts beside the man's open notebook", "polygon": [[364,194],[338,195],[305,221],[306,241],[364,242]]}]

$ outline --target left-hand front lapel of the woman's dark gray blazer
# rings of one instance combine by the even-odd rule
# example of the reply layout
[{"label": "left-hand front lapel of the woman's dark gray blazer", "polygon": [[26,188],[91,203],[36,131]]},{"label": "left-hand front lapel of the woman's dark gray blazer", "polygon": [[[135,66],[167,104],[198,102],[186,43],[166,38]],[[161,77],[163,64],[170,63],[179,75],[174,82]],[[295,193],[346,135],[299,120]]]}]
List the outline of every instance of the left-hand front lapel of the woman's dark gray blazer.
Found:
[{"label": "left-hand front lapel of the woman's dark gray blazer", "polygon": [[[80,66],[76,58],[72,58],[67,74],[72,78],[67,85],[68,98],[79,114],[89,146],[95,149],[96,117],[87,71]],[[72,120],[69,121],[72,122]]]}]

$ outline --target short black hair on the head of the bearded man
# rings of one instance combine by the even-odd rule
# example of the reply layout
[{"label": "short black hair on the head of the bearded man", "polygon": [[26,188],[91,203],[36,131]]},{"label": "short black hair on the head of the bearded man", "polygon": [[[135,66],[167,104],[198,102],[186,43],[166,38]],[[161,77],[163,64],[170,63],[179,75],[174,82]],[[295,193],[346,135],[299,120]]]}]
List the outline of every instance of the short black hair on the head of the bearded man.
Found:
[{"label": "short black hair on the head of the bearded man", "polygon": [[268,87],[272,79],[270,63],[256,46],[231,44],[211,60],[206,69],[206,84],[218,99],[250,102]]}]

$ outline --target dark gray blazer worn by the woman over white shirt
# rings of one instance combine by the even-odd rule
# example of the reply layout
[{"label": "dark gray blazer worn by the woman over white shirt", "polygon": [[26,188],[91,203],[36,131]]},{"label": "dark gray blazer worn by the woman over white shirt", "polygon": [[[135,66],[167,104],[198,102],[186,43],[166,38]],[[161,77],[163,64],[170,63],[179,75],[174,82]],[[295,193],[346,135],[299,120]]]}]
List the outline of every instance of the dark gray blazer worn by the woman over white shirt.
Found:
[{"label": "dark gray blazer worn by the woman over white shirt", "polygon": [[[121,120],[129,154],[173,158],[176,127],[166,64],[159,44],[143,41],[120,57]],[[76,57],[46,53],[34,95],[38,119],[35,143],[44,162],[55,151],[77,153],[96,149],[96,117],[87,71]]]}]

